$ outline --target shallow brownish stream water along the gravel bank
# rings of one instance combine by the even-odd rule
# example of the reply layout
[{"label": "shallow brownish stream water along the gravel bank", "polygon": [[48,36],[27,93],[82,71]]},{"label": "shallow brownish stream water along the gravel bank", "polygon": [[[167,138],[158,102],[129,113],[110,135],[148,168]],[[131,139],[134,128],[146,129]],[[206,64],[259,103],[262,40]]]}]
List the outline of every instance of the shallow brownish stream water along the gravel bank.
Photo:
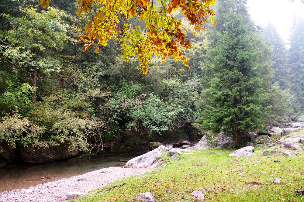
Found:
[{"label": "shallow brownish stream water along the gravel bank", "polygon": [[[16,190],[108,167],[122,167],[139,155],[103,157],[85,161],[60,161],[0,169],[0,192]],[[46,178],[46,179],[42,179]]]}]

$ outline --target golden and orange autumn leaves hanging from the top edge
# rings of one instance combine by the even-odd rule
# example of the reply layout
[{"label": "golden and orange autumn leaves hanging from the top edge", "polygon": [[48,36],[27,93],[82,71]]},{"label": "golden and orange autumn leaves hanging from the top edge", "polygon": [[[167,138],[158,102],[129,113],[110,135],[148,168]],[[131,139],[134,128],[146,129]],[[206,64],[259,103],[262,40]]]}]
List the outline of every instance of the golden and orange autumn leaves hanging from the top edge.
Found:
[{"label": "golden and orange autumn leaves hanging from the top edge", "polygon": [[[48,0],[41,0],[46,5]],[[183,55],[182,47],[191,47],[189,37],[182,28],[181,21],[171,15],[172,10],[181,10],[185,18],[195,26],[196,36],[204,30],[204,23],[215,24],[215,12],[210,8],[216,0],[78,0],[77,15],[82,12],[92,16],[92,22],[85,26],[85,36],[81,42],[85,43],[86,52],[94,43],[105,46],[108,40],[119,40],[123,48],[125,61],[130,56],[137,56],[141,61],[143,74],[148,73],[148,65],[152,53],[161,55],[162,62],[167,56],[174,61],[183,61],[188,65],[188,58]],[[145,22],[141,29],[132,23],[133,19]],[[95,50],[98,53],[98,49]]]}]

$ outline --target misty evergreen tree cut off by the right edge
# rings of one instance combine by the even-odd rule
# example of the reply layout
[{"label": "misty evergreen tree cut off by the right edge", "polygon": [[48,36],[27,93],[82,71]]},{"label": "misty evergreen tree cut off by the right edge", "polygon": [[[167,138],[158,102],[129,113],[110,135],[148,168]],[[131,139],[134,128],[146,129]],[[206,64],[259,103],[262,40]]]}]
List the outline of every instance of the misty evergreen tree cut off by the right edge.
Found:
[{"label": "misty evergreen tree cut off by the right edge", "polygon": [[292,31],[289,48],[289,64],[293,74],[291,89],[295,101],[302,107],[304,104],[304,20],[295,19]]}]

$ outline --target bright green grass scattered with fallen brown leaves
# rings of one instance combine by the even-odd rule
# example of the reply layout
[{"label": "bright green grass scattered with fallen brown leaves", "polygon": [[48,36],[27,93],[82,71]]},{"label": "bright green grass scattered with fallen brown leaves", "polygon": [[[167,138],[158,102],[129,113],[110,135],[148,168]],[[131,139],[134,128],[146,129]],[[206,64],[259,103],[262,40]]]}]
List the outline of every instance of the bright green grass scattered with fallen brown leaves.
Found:
[{"label": "bright green grass scattered with fallen brown leaves", "polygon": [[[304,196],[294,197],[295,190],[304,189],[303,152],[292,151],[301,153],[298,158],[271,152],[263,155],[264,150],[274,148],[257,147],[254,155],[247,159],[240,157],[240,161],[232,161],[236,158],[228,156],[233,151],[220,148],[182,154],[179,160],[170,159],[167,166],[117,180],[74,201],[143,201],[136,199],[136,195],[151,192],[158,202],[191,202],[195,201],[191,195],[193,190],[202,191],[207,202],[304,201]],[[279,162],[275,163],[277,159]],[[203,165],[194,166],[195,163]],[[282,182],[275,184],[274,178],[282,178]],[[263,184],[254,186],[246,182]]]}]

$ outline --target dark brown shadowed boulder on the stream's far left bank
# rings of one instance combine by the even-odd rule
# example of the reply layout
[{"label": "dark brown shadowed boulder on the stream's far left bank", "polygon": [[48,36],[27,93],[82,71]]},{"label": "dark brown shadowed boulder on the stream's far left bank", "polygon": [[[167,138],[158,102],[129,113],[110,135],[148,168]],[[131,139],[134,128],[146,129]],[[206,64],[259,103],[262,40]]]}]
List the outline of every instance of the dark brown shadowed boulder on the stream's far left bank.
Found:
[{"label": "dark brown shadowed boulder on the stream's far left bank", "polygon": [[80,154],[78,149],[70,150],[67,144],[50,146],[46,148],[20,148],[20,157],[28,163],[49,163],[52,161],[67,159]]}]

